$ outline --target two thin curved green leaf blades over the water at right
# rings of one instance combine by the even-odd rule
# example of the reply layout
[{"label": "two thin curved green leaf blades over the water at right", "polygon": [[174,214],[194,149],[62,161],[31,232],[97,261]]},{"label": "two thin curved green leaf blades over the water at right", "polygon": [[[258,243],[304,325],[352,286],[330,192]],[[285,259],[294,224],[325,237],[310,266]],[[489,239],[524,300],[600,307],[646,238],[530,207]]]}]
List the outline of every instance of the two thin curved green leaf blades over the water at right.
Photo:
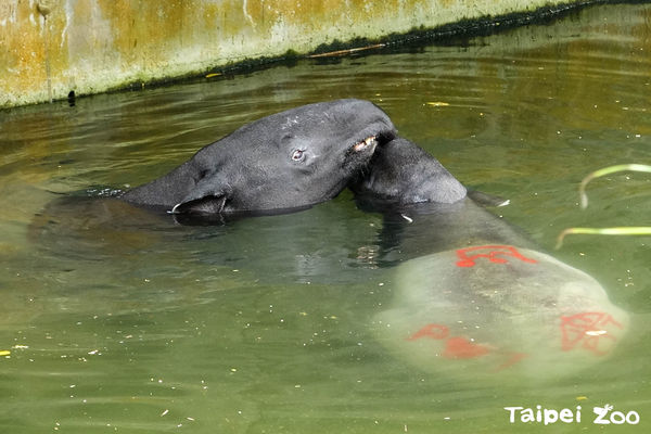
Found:
[{"label": "two thin curved green leaf blades over the water at right", "polygon": [[[585,209],[588,207],[588,195],[586,194],[586,186],[595,178],[615,174],[617,171],[644,171],[651,173],[651,166],[643,164],[618,164],[615,166],[604,167],[599,170],[595,170],[588,174],[580,186],[578,187],[578,195],[580,199],[580,207]],[[558,239],[556,248],[561,248],[563,245],[563,239],[567,234],[598,234],[598,235],[651,235],[651,227],[648,226],[633,226],[633,227],[614,227],[614,228],[567,228],[563,230]]]}]

